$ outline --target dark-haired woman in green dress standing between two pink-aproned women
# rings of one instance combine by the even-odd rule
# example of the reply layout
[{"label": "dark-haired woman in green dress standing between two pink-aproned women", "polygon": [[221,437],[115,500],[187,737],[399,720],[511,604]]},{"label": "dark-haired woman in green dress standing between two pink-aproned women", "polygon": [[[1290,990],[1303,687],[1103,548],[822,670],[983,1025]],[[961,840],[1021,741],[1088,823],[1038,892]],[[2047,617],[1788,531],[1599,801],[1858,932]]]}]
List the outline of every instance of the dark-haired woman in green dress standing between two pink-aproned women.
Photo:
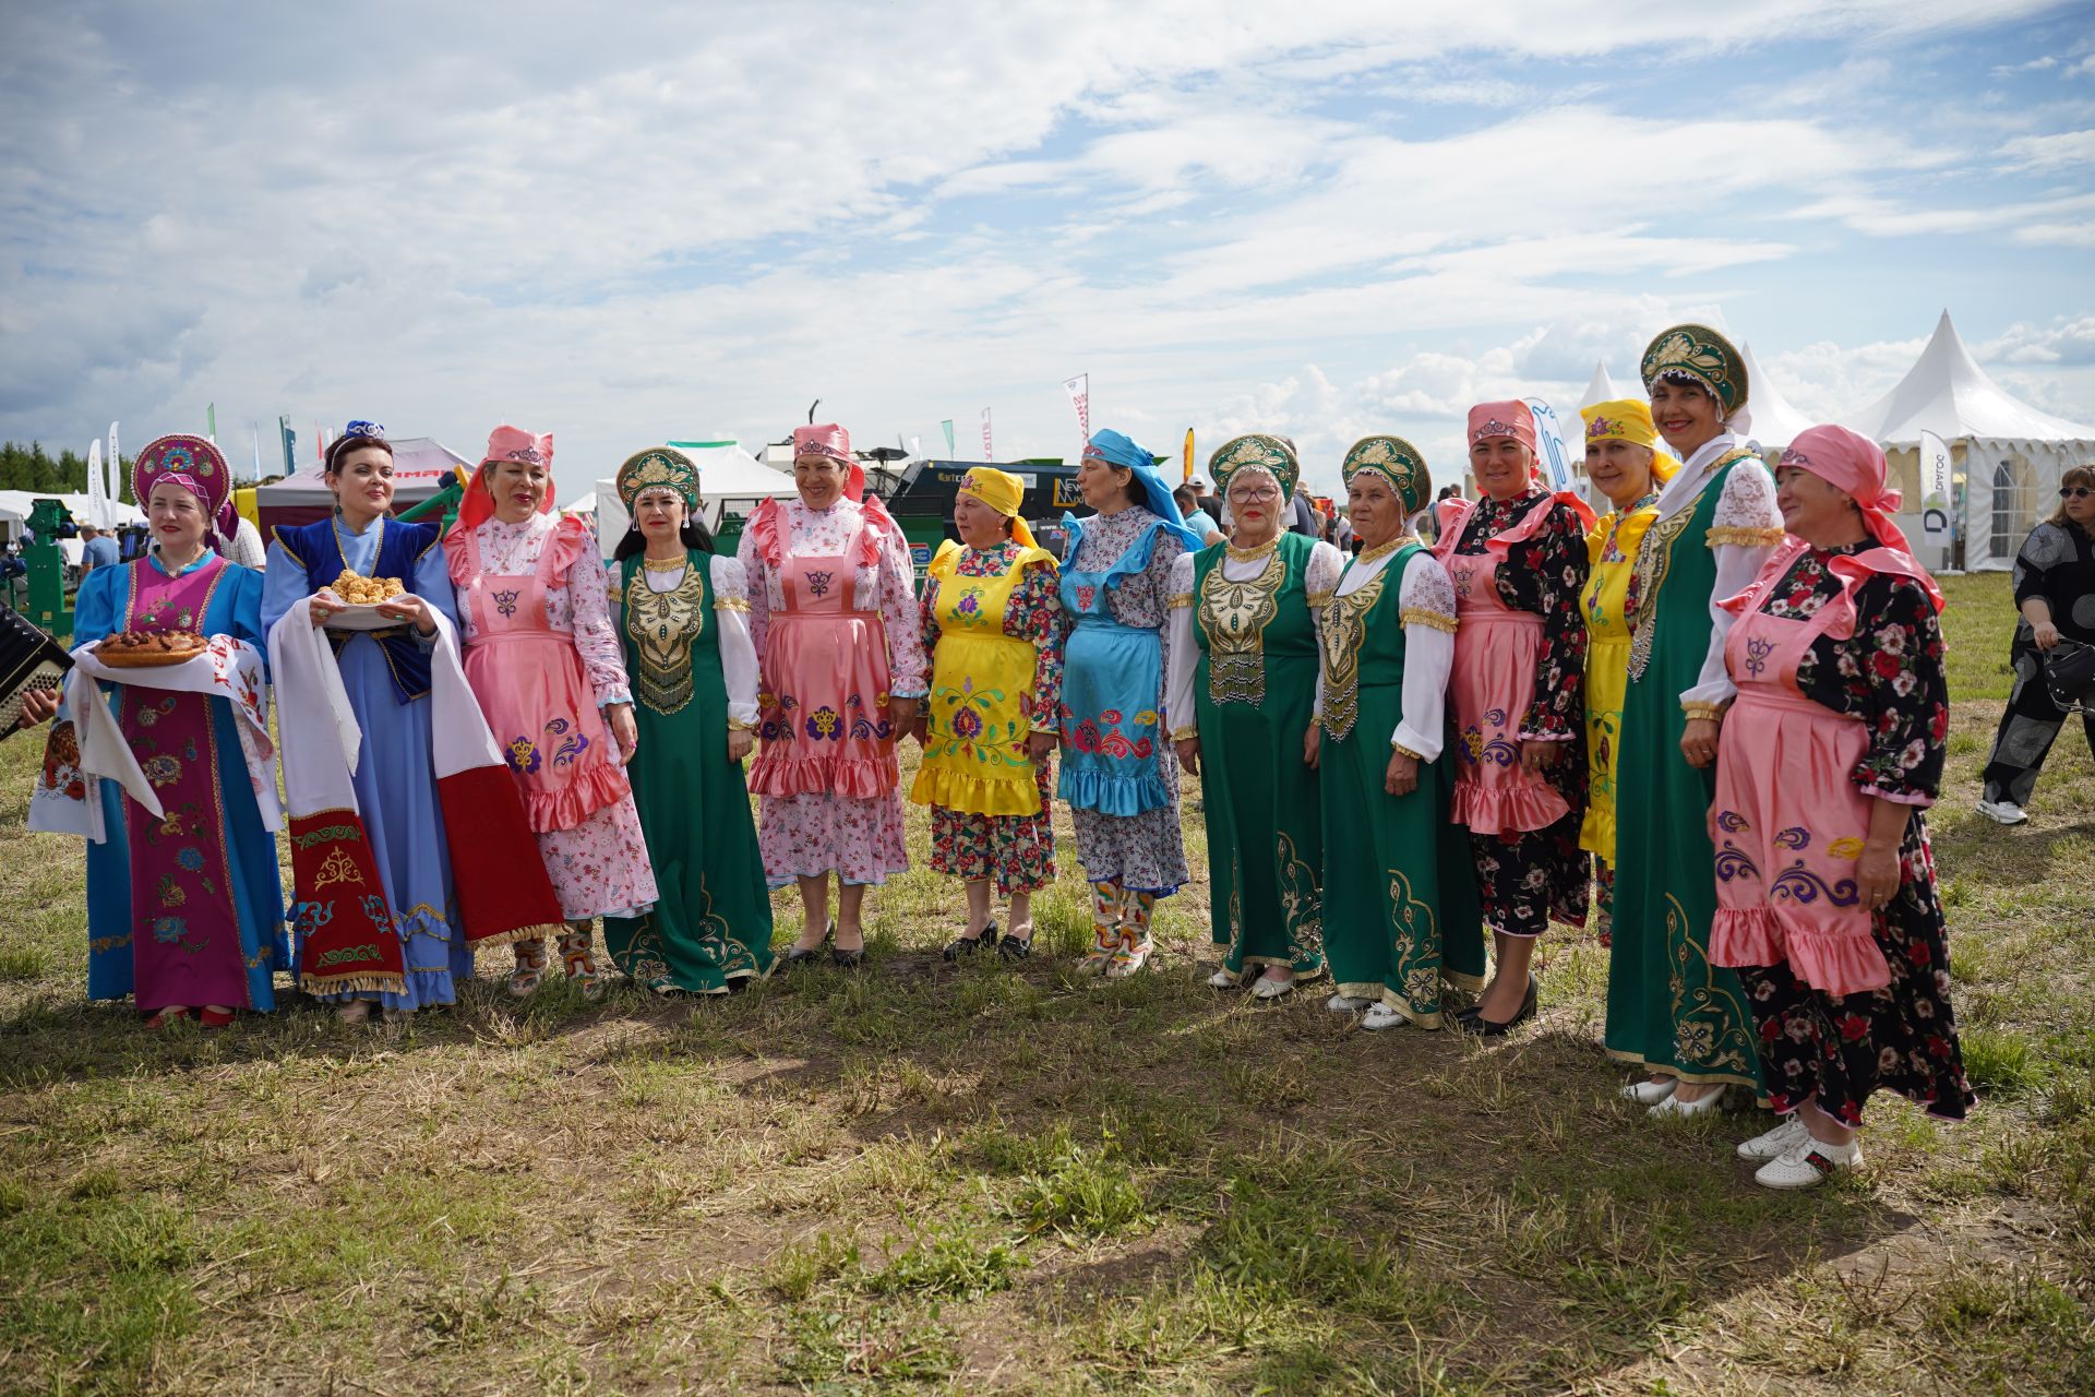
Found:
[{"label": "dark-haired woman in green dress standing between two pink-aproned women", "polygon": [[612,605],[645,760],[626,771],[660,901],[605,917],[612,961],[658,995],[725,995],[771,974],[771,896],[742,758],[756,725],[756,647],[742,563],[698,519],[698,467],[658,446],[618,467],[633,528]]}]

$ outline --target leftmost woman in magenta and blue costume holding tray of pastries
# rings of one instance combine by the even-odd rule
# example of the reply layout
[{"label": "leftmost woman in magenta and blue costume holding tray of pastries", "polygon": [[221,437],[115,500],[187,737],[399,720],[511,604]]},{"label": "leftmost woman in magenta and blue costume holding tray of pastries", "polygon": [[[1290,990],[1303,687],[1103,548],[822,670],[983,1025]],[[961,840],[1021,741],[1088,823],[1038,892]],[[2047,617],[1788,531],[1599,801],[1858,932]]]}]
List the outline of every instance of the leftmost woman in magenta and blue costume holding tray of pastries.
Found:
[{"label": "leftmost woman in magenta and blue costume holding tray of pastries", "polygon": [[[132,492],[159,551],[90,572],[73,635],[126,635],[140,658],[155,647],[201,651],[210,637],[260,651],[262,574],[216,551],[235,517],[218,448],[195,436],[147,444]],[[191,1014],[218,1028],[237,1010],[268,1012],[283,882],[233,700],[147,683],[111,689],[117,727],[163,815],[101,781],[105,838],[88,844],[88,999],[132,995],[149,1028]]]}]

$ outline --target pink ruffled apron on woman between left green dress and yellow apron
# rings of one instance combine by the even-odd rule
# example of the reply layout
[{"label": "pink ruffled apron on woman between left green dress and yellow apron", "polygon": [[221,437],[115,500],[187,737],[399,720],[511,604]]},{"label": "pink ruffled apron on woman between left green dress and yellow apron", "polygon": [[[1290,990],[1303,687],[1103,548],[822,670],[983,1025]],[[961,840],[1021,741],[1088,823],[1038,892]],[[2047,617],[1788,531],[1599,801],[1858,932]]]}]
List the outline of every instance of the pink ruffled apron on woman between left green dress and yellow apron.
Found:
[{"label": "pink ruffled apron on woman between left green dress and yellow apron", "polygon": [[836,794],[874,800],[901,783],[888,725],[888,630],[855,609],[865,519],[844,551],[777,563],[786,607],[771,612],[763,653],[760,796]]}]

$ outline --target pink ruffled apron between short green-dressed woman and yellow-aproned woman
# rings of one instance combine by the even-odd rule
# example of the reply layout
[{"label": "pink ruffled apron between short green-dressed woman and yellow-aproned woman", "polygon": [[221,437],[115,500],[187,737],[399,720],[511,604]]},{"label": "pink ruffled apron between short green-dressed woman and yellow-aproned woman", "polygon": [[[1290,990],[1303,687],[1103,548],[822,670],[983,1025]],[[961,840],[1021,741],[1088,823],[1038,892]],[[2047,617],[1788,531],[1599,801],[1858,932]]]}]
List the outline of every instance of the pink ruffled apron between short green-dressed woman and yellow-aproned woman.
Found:
[{"label": "pink ruffled apron between short green-dressed woman and yellow-aproned woman", "polygon": [[1454,580],[1454,672],[1448,697],[1456,720],[1456,775],[1450,819],[1473,834],[1546,829],[1571,813],[1540,773],[1521,767],[1521,714],[1536,697],[1542,660],[1542,618],[1517,612],[1498,595],[1498,563],[1506,549],[1538,528],[1557,505],[1544,494],[1521,522],[1492,538],[1483,553],[1456,553],[1471,505],[1443,524],[1446,551],[1435,549]]}]

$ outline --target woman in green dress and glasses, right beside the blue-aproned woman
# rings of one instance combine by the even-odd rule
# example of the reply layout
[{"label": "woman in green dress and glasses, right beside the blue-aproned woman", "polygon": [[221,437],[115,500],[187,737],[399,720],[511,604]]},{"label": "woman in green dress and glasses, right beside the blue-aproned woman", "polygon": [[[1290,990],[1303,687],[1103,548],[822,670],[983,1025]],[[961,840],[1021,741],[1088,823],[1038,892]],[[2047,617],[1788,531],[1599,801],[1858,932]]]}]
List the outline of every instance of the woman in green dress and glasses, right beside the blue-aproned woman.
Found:
[{"label": "woman in green dress and glasses, right beside the blue-aproned woman", "polygon": [[[1240,436],[1209,459],[1234,542],[1171,563],[1165,712],[1179,767],[1200,777],[1209,984],[1280,999],[1324,974],[1322,813],[1316,781],[1318,614],[1345,557],[1282,532],[1301,467],[1278,436]],[[1205,769],[1203,769],[1205,762]]]}]

